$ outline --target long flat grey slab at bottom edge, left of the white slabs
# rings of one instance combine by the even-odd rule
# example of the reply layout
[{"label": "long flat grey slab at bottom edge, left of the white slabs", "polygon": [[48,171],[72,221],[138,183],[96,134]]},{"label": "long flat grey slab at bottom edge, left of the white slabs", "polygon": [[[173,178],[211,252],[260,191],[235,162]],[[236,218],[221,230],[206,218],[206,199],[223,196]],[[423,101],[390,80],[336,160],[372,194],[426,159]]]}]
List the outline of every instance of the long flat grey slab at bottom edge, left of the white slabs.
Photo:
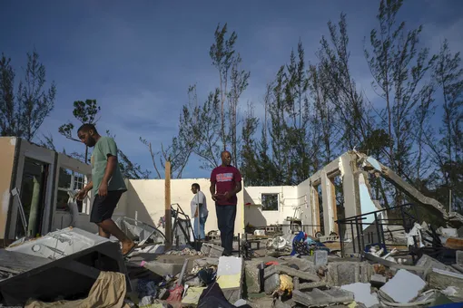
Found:
[{"label": "long flat grey slab at bottom edge, left of the white slabs", "polygon": [[331,303],[352,303],[354,301],[354,294],[339,288],[332,288],[327,291],[313,289],[307,293],[294,290],[292,293],[292,299],[296,303],[301,303],[308,307],[313,307],[329,305]]}]

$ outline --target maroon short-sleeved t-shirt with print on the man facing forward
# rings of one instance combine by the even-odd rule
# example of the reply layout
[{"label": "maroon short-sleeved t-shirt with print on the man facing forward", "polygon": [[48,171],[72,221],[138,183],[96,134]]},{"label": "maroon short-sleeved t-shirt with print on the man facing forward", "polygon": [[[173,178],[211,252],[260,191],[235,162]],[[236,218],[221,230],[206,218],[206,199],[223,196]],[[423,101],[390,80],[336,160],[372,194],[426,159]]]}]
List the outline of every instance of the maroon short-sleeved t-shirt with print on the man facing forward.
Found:
[{"label": "maroon short-sleeved t-shirt with print on the man facing forward", "polygon": [[240,170],[233,166],[219,166],[214,168],[211,173],[211,182],[213,181],[216,181],[215,189],[218,195],[215,204],[219,206],[236,206],[238,203],[238,198],[236,196],[227,200],[223,194],[227,191],[231,192],[236,187],[236,183],[241,182]]}]

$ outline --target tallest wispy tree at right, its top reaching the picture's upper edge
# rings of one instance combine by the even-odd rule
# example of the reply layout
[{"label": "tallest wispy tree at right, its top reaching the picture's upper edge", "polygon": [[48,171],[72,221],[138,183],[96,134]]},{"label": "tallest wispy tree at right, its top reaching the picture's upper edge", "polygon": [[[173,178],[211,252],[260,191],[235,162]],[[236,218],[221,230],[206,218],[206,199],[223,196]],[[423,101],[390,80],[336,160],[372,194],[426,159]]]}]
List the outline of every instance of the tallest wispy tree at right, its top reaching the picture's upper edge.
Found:
[{"label": "tallest wispy tree at right, its top reaching the picture's upper edge", "polygon": [[420,101],[421,82],[435,57],[429,59],[429,50],[419,49],[421,26],[406,31],[405,22],[397,24],[402,4],[402,0],[381,0],[379,29],[371,30],[371,51],[365,47],[365,56],[374,79],[372,85],[386,103],[381,119],[389,134],[389,166],[408,177],[415,141],[414,111]]}]

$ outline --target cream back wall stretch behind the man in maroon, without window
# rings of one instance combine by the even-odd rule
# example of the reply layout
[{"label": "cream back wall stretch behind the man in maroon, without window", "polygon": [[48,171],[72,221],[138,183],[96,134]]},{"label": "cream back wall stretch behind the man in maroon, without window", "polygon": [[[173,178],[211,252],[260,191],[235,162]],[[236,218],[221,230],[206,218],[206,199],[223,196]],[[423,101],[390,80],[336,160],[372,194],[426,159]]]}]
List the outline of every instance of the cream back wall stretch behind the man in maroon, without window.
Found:
[{"label": "cream back wall stretch behind the man in maroon, without window", "polygon": [[[185,214],[192,217],[190,202],[192,201],[192,184],[198,183],[207,198],[209,217],[206,220],[206,233],[218,230],[215,204],[209,188],[209,178],[175,178],[171,179],[171,204],[178,203]],[[165,214],[164,180],[163,179],[131,179],[127,181],[128,191],[123,194],[115,214],[136,218],[146,224],[157,226],[160,217]],[[235,220],[235,234],[244,229],[243,191],[238,194],[238,207]],[[160,229],[165,230],[161,226]]]}]

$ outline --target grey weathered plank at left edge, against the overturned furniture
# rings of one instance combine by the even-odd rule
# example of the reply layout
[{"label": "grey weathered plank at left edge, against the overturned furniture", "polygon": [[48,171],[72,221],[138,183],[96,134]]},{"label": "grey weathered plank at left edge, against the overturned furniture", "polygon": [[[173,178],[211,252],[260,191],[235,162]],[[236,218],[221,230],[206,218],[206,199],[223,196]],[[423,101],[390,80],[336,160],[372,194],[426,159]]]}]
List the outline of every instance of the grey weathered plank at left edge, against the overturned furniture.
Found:
[{"label": "grey weathered plank at left edge, against the overturned furniture", "polygon": [[0,249],[0,265],[5,269],[11,269],[12,273],[23,273],[33,268],[49,264],[50,262],[52,262],[52,260],[40,256],[26,255],[15,251]]}]

